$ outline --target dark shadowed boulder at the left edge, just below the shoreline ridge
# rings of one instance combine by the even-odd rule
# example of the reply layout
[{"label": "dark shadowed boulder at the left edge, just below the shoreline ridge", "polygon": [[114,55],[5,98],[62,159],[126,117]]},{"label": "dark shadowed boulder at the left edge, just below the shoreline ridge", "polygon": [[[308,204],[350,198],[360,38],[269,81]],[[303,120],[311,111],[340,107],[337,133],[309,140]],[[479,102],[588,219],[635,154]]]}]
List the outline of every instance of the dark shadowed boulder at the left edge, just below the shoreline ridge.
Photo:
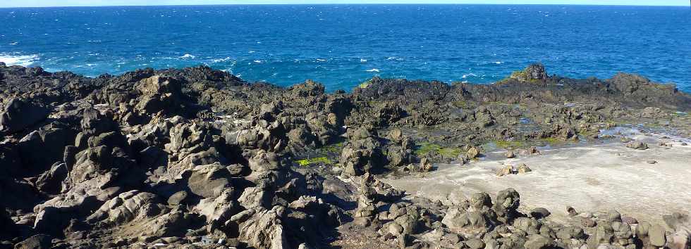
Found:
[{"label": "dark shadowed boulder at the left edge, just below the shoreline ridge", "polygon": [[48,108],[20,98],[12,98],[0,113],[0,131],[22,131],[45,120],[49,113]]}]

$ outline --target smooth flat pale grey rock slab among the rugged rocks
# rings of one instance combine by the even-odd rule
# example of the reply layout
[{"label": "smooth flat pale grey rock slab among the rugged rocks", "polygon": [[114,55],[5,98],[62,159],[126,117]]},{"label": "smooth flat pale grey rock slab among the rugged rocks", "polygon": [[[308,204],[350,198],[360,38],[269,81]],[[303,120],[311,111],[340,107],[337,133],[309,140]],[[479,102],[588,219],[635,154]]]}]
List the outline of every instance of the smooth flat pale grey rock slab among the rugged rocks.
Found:
[{"label": "smooth flat pale grey rock slab among the rugged rocks", "polygon": [[[480,160],[464,166],[438,165],[439,170],[423,177],[382,181],[413,195],[451,202],[478,191],[496,196],[513,188],[520,193],[523,212],[547,208],[551,219],[565,219],[565,208],[570,205],[577,211],[616,209],[623,215],[660,223],[662,215],[691,212],[691,146],[681,145],[678,138],[659,137],[638,134],[636,139],[651,144],[645,151],[626,148],[624,143],[557,148],[542,150],[540,155]],[[674,141],[672,147],[656,146],[658,141],[670,140]],[[532,172],[496,176],[499,168],[520,163],[530,166]]]}]

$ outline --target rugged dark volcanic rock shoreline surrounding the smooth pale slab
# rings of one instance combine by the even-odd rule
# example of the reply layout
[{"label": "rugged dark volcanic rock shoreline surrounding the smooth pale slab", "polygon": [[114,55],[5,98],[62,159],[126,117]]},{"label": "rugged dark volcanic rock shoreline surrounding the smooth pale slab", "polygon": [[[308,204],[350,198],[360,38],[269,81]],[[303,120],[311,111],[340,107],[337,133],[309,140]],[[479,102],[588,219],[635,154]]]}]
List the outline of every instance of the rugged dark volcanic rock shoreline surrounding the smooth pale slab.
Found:
[{"label": "rugged dark volcanic rock shoreline surrounding the smooth pale slab", "polygon": [[[0,100],[0,248],[690,246],[684,213],[652,224],[564,207],[554,222],[564,210],[520,212],[513,189],[442,203],[380,180],[613,139],[600,131],[623,123],[688,137],[691,96],[638,75],[530,65],[489,85],[374,78],[325,93],[206,67],[90,78],[0,63]],[[517,166],[498,174],[530,171]]]}]

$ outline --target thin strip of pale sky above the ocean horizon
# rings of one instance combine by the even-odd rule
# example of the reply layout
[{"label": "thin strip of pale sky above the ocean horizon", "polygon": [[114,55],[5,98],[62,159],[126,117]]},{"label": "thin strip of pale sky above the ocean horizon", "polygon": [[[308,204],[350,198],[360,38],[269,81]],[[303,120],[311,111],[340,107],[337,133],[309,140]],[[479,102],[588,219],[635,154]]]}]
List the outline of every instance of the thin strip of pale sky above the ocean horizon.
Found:
[{"label": "thin strip of pale sky above the ocean horizon", "polygon": [[197,4],[607,4],[689,6],[689,0],[0,0],[1,7]]}]

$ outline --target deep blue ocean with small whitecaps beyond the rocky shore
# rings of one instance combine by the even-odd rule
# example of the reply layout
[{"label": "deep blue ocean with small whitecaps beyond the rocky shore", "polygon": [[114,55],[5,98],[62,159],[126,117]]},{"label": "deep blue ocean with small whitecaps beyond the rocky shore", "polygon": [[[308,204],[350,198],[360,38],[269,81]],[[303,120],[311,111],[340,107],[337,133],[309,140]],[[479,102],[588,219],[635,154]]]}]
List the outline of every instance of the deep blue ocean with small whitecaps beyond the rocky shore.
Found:
[{"label": "deep blue ocean with small whitecaps beyond the rocky shore", "polygon": [[636,72],[691,92],[691,9],[649,6],[276,5],[0,8],[0,61],[83,75],[209,65],[250,81],[375,75],[488,83]]}]

